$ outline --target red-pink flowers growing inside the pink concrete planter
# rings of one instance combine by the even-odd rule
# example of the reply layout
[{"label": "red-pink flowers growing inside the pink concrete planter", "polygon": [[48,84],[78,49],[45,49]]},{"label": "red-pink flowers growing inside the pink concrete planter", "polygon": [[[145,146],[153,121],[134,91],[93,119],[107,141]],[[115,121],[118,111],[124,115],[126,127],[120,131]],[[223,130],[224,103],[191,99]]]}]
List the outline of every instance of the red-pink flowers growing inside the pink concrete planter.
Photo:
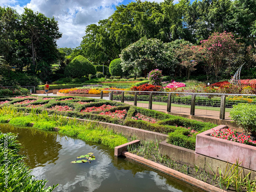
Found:
[{"label": "red-pink flowers growing inside the pink concrete planter", "polygon": [[244,135],[243,133],[238,134],[236,130],[231,129],[221,129],[215,130],[212,129],[210,132],[211,137],[217,137],[229,141],[234,141],[238,143],[250,144],[256,146],[256,141],[253,141],[251,137],[248,135]]}]

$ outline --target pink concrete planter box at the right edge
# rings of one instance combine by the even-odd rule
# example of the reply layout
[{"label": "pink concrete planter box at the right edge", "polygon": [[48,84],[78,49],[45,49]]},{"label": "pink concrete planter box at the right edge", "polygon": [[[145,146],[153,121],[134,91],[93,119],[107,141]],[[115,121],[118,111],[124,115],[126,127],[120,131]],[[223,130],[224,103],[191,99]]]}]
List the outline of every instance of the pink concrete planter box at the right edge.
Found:
[{"label": "pink concrete planter box at the right edge", "polygon": [[[227,128],[219,125],[214,129]],[[211,130],[197,135],[196,153],[229,163],[242,162],[241,166],[256,170],[256,147],[210,136]]]}]

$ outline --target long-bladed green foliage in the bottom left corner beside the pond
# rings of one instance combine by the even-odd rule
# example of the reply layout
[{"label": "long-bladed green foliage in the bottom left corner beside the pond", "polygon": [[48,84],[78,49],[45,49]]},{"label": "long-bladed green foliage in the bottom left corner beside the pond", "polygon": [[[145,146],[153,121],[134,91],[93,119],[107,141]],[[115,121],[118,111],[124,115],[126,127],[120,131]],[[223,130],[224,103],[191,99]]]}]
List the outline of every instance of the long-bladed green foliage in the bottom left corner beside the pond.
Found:
[{"label": "long-bladed green foliage in the bottom left corner beside the pond", "polygon": [[[3,179],[0,185],[1,191],[35,191],[35,192],[51,192],[57,185],[53,187],[45,187],[46,180],[36,180],[31,174],[29,167],[21,162],[24,156],[18,155],[20,144],[17,143],[16,134],[3,134],[0,132],[0,178]],[[8,154],[6,156],[5,143],[8,143]],[[5,159],[5,157],[7,159]],[[5,161],[7,160],[7,162]],[[8,167],[6,167],[6,163]],[[8,168],[8,174],[5,172]],[[4,178],[8,176],[8,183]]]}]

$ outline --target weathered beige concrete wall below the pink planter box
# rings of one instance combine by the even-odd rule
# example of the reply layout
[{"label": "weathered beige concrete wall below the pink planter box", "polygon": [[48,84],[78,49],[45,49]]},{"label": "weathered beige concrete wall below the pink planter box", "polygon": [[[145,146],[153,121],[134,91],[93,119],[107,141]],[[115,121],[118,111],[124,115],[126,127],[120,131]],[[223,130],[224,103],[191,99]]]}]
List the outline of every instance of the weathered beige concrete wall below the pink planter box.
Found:
[{"label": "weathered beige concrete wall below the pink planter box", "polygon": [[[172,145],[166,141],[159,143],[159,152],[162,155],[168,156],[170,159],[175,160],[178,163],[186,164],[189,166],[199,166],[201,170],[205,170],[207,173],[214,175],[221,170],[225,170],[227,165],[232,165],[231,163],[207,157],[204,155],[197,154],[193,150],[188,150],[180,146]],[[225,155],[226,153],[224,153]],[[212,173],[212,170],[214,173]],[[251,172],[251,178],[256,179],[256,172],[251,169],[244,168],[244,176]]]}]

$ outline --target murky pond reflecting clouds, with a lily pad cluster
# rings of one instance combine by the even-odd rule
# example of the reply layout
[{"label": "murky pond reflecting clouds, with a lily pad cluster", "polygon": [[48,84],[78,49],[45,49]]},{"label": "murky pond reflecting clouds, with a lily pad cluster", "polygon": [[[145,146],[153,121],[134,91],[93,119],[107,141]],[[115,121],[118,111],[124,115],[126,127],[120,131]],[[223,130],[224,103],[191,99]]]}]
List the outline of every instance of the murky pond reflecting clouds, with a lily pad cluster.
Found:
[{"label": "murky pond reflecting clouds, with a lily pad cluster", "polygon": [[[96,143],[61,136],[57,132],[0,124],[3,133],[18,134],[26,155],[24,162],[36,179],[47,179],[54,191],[201,191],[189,184],[125,158]],[[71,163],[76,157],[94,153],[91,163]]]}]

